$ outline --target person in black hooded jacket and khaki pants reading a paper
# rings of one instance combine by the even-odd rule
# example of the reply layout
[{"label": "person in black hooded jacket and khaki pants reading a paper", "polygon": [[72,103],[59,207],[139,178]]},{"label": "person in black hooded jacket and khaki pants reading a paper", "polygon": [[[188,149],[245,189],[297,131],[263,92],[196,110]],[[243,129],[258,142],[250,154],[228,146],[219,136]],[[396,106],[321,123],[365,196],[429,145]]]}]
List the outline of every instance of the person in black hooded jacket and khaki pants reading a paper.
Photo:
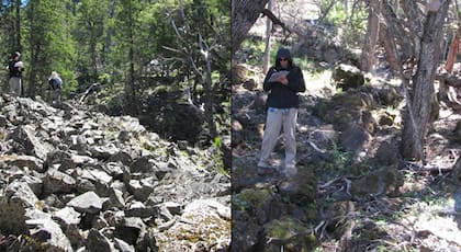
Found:
[{"label": "person in black hooded jacket and khaki pants reading a paper", "polygon": [[280,48],[265,79],[263,89],[270,92],[267,104],[268,115],[266,130],[258,162],[258,172],[266,173],[270,169],[269,157],[277,144],[283,126],[285,139],[285,175],[293,175],[296,164],[296,119],[300,106],[299,92],[306,90],[301,69],[293,64],[290,50]]}]

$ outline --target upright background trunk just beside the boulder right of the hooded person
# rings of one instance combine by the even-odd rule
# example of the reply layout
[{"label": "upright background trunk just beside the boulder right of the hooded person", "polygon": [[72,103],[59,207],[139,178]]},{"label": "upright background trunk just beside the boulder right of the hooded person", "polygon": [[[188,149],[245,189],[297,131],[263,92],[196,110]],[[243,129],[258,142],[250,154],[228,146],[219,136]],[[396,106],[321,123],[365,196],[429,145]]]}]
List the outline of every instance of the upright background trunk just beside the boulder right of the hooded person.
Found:
[{"label": "upright background trunk just beside the boulder right of the hooded person", "polygon": [[368,14],[368,27],[366,42],[360,59],[360,68],[362,71],[372,71],[374,65],[374,51],[380,30],[381,0],[371,0]]}]

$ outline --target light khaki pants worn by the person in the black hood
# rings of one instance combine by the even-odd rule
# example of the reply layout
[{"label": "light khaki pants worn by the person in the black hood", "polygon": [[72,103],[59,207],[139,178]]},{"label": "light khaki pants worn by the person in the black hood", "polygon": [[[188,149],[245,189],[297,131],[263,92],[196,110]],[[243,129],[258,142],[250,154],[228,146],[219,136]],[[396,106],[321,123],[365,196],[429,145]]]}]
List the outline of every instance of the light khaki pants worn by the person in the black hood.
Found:
[{"label": "light khaki pants worn by the person in the black hood", "polygon": [[276,147],[277,139],[279,138],[280,129],[283,126],[283,135],[285,138],[284,167],[294,168],[296,164],[296,119],[297,108],[268,108],[259,163],[265,163],[269,159]]}]

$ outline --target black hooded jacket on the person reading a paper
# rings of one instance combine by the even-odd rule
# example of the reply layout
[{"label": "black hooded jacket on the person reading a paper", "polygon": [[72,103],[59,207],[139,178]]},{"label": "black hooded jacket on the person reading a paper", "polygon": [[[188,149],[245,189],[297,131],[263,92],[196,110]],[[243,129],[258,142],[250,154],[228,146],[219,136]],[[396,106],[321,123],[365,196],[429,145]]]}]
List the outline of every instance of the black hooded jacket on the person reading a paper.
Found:
[{"label": "black hooded jacket on the person reading a paper", "polygon": [[[281,67],[280,58],[285,58],[289,60],[286,69],[283,69]],[[289,81],[286,85],[278,81],[270,81],[270,77],[274,72],[282,70],[290,71],[286,76],[286,79]],[[269,69],[265,78],[263,89],[266,92],[270,91],[268,100],[266,102],[267,107],[290,108],[300,106],[300,99],[297,96],[297,93],[304,92],[306,88],[304,83],[303,72],[301,71],[301,68],[293,64],[293,59],[289,49],[280,48],[277,51],[276,66]]]}]

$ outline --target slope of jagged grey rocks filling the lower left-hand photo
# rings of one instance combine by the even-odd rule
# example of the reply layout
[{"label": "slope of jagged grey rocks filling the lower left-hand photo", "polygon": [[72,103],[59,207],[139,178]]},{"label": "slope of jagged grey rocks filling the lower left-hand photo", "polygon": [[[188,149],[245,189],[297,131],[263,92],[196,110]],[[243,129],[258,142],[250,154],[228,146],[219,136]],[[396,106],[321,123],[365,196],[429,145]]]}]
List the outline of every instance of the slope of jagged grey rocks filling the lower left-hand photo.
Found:
[{"label": "slope of jagged grey rocks filling the lower left-hand photo", "polygon": [[0,96],[0,251],[227,251],[231,179],[138,119]]}]

